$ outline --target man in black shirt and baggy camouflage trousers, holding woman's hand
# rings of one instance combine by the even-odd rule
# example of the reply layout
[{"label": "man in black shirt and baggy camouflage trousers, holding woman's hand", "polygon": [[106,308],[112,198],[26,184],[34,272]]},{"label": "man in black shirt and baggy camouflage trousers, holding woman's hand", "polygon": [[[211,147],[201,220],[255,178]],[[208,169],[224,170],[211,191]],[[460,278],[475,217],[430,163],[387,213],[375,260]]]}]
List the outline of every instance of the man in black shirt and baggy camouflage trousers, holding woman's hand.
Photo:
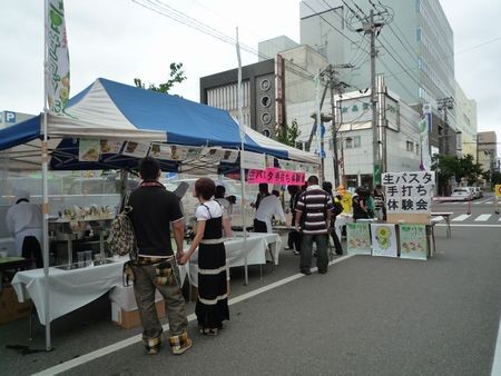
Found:
[{"label": "man in black shirt and baggy camouflage trousers, holding woman's hand", "polygon": [[155,290],[164,296],[169,319],[169,344],[179,355],[191,347],[188,338],[185,299],[179,289],[179,270],[170,244],[170,225],[177,246],[177,257],[183,256],[184,217],[179,200],[158,182],[160,167],[150,157],[139,162],[139,188],[130,194],[128,205],[136,235],[138,260],[134,263],[134,293],[141,319],[143,342],[147,353],[155,355],[161,345],[161,325],[155,306]]}]

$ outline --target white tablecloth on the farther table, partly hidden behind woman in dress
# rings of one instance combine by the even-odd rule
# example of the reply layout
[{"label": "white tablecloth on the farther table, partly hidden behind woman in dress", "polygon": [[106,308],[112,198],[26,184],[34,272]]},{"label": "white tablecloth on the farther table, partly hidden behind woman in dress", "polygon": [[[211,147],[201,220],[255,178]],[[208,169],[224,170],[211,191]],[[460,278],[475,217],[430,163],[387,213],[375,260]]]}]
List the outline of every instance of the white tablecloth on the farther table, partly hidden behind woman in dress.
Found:
[{"label": "white tablecloth on the farther table, partly hidden behind woman in dress", "polygon": [[[233,234],[233,238],[225,240],[226,264],[229,268],[264,265],[267,259],[278,265],[278,256],[282,249],[282,239],[278,234],[247,232],[245,247],[244,234],[235,231]],[[185,266],[185,270],[189,271],[190,284],[198,286],[198,250],[193,254],[189,264]]]}]

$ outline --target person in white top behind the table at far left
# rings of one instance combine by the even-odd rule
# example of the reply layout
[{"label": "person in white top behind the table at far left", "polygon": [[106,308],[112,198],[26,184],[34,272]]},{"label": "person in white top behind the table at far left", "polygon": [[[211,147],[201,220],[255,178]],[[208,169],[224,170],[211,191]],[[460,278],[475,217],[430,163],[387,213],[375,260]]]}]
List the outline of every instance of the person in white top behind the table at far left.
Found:
[{"label": "person in white top behind the table at far left", "polygon": [[16,256],[35,257],[37,268],[43,267],[41,256],[43,216],[39,205],[30,202],[30,194],[24,189],[16,191],[16,204],[6,215],[9,232],[16,237]]}]

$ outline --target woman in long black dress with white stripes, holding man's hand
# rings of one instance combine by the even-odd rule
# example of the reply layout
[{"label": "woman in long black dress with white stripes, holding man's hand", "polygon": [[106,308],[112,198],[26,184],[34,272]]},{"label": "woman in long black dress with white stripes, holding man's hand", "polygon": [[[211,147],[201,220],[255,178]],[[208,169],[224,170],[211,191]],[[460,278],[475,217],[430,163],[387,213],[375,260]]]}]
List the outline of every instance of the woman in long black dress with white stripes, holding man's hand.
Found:
[{"label": "woman in long black dress with white stripes, holding man's hand", "polygon": [[195,308],[200,333],[217,335],[229,319],[226,251],[223,243],[223,207],[212,199],[216,185],[208,178],[195,182],[196,236],[179,264],[186,264],[198,247],[198,298]]}]

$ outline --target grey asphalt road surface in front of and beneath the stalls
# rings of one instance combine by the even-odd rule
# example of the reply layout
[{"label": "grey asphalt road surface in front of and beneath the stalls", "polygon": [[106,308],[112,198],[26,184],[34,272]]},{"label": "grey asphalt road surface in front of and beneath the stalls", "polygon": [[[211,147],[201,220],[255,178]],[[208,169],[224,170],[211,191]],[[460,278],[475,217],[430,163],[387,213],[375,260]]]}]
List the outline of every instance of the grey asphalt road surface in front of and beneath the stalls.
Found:
[{"label": "grey asphalt road surface in front of and beneath the stalls", "polygon": [[[487,212],[482,205],[472,208],[472,218],[453,222],[451,239],[438,228],[433,259],[346,258],[326,275],[298,277],[233,304],[218,337],[198,335],[191,323],[195,345],[183,356],[167,348],[146,356],[135,343],[66,374],[490,375],[501,309],[501,229],[494,226],[501,222],[475,221]],[[454,211],[452,218],[463,209],[440,205]],[[233,298],[296,271],[289,251],[275,271],[265,268],[262,280],[252,269],[249,286],[236,270]],[[7,343],[26,343],[27,323],[0,326],[0,374],[40,372],[140,332],[112,326],[98,314],[106,304],[56,320],[50,354],[6,350]],[[31,347],[42,347],[42,333],[38,327]]]}]

